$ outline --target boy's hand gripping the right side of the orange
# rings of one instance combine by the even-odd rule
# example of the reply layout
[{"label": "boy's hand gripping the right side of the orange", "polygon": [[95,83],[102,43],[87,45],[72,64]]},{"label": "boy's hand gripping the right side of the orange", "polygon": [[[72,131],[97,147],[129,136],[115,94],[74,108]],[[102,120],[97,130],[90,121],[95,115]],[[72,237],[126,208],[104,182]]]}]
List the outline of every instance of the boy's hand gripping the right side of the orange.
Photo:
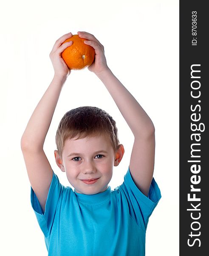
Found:
[{"label": "boy's hand gripping the right side of the orange", "polygon": [[80,38],[88,39],[89,41],[84,42],[84,44],[90,45],[95,50],[95,59],[88,67],[88,70],[97,75],[102,71],[109,69],[104,56],[104,46],[95,38],[95,36],[87,32],[78,32],[78,35]]}]

